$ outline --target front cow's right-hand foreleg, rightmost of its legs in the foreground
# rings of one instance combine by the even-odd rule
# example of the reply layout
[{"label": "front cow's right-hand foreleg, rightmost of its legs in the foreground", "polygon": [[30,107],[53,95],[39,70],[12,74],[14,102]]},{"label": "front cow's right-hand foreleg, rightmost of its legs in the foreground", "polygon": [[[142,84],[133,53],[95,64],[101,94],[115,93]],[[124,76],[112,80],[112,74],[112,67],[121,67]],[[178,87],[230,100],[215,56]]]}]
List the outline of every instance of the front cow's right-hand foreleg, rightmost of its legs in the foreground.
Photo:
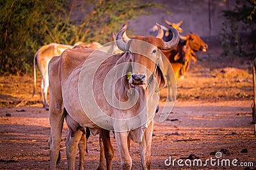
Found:
[{"label": "front cow's right-hand foreleg, rightmost of its legs in the foreground", "polygon": [[143,169],[150,169],[151,165],[151,144],[154,120],[151,120],[148,128],[145,129],[143,139],[140,143],[141,166]]}]

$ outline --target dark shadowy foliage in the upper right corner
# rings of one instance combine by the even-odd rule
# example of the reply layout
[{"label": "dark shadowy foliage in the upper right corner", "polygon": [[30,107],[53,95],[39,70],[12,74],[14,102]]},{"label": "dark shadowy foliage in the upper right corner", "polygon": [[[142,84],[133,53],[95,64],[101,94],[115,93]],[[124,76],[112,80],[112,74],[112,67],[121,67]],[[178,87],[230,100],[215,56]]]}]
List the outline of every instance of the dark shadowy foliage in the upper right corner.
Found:
[{"label": "dark shadowy foliage in the upper right corner", "polygon": [[[250,2],[249,6],[241,6],[240,3],[241,1],[236,1],[234,10],[223,11],[223,16],[227,19],[223,22],[220,32],[223,55],[231,58],[236,56],[254,58],[256,55],[256,4]],[[241,22],[244,23],[243,27]],[[241,38],[239,29],[251,32],[250,41]]]}]

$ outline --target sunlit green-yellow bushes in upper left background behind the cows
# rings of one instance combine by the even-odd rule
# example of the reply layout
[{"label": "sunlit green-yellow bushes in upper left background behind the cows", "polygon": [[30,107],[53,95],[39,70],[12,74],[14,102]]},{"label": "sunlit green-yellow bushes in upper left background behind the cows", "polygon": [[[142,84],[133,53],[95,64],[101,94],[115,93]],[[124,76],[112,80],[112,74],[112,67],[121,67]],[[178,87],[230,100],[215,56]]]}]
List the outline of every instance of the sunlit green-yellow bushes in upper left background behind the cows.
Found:
[{"label": "sunlit green-yellow bushes in upper left background behind the cows", "polygon": [[[145,8],[163,6],[137,0],[0,0],[0,74],[30,73],[36,51],[52,42],[112,41],[111,33],[148,14]],[[83,19],[72,20],[74,11]]]}]

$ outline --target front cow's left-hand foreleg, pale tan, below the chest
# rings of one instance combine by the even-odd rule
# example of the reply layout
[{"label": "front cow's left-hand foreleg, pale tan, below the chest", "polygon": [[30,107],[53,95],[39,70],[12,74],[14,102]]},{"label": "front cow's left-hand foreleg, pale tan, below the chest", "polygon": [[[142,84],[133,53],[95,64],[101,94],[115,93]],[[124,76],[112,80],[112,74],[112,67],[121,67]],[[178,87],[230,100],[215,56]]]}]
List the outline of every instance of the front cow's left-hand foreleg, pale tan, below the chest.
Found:
[{"label": "front cow's left-hand foreleg, pale tan, below the chest", "polygon": [[127,145],[127,136],[128,132],[115,132],[116,145],[121,156],[121,165],[122,169],[131,169],[132,159],[129,154],[128,145]]}]

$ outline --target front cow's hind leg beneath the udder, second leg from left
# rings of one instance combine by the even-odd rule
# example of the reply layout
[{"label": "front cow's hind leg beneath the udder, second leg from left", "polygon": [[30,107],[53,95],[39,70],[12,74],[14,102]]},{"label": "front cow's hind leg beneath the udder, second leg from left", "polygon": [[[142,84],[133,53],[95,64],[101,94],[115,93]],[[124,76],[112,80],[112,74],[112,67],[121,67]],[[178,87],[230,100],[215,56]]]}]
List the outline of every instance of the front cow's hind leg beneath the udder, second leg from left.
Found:
[{"label": "front cow's hind leg beneath the udder, second leg from left", "polygon": [[66,142],[68,169],[75,169],[76,150],[82,134],[82,131],[76,131],[74,132],[74,137],[70,137],[70,135],[68,135],[68,141]]}]

